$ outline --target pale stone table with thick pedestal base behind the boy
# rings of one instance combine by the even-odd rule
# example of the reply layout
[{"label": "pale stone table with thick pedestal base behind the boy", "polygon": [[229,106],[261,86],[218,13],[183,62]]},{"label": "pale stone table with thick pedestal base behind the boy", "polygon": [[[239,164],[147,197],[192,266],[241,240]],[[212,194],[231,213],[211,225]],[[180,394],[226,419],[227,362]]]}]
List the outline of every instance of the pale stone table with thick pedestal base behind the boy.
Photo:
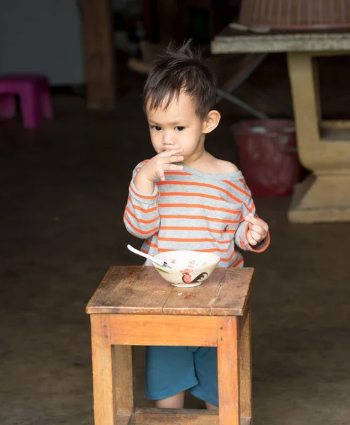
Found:
[{"label": "pale stone table with thick pedestal base behind the boy", "polygon": [[298,153],[312,171],[295,188],[291,222],[350,220],[350,121],[322,120],[315,57],[349,55],[350,33],[241,33],[230,27],[211,45],[213,54],[286,52]]}]

